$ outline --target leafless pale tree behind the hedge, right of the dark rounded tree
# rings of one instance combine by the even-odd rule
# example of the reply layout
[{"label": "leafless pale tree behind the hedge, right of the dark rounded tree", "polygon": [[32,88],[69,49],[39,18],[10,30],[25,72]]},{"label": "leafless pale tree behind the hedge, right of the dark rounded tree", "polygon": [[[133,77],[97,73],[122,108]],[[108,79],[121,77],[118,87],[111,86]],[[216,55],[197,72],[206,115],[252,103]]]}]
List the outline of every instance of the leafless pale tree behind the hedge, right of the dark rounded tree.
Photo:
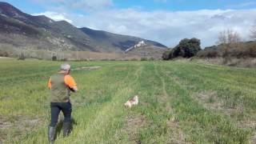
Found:
[{"label": "leafless pale tree behind the hedge, right of the dark rounded tree", "polygon": [[241,37],[235,30],[227,29],[218,34],[218,44],[233,44],[238,42],[241,42]]}]

